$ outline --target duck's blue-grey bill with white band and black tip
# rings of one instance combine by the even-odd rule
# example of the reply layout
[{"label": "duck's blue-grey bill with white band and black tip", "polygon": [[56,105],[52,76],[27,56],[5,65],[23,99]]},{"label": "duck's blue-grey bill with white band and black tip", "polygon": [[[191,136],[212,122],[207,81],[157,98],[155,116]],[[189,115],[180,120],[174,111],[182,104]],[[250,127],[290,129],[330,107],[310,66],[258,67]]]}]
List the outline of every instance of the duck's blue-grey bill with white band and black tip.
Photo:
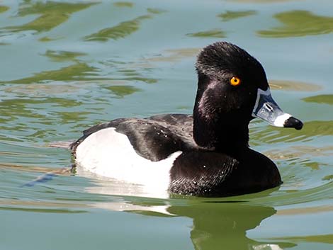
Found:
[{"label": "duck's blue-grey bill with white band and black tip", "polygon": [[256,104],[252,116],[266,120],[267,123],[276,127],[294,127],[300,130],[303,123],[288,113],[284,113],[273,100],[269,88],[266,91],[258,89]]}]

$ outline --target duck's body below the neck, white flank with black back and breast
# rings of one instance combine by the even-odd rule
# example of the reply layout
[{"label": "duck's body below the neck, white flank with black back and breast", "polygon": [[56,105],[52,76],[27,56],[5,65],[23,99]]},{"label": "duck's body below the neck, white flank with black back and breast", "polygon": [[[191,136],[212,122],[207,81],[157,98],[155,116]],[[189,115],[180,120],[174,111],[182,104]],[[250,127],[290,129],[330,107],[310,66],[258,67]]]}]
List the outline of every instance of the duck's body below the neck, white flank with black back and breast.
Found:
[{"label": "duck's body below the neck, white flank with black back and breast", "polygon": [[77,165],[84,169],[140,184],[159,197],[165,197],[168,191],[235,195],[281,183],[275,164],[252,149],[245,147],[231,156],[199,147],[193,140],[191,115],[112,120],[85,130],[84,136],[72,144],[72,150]]}]

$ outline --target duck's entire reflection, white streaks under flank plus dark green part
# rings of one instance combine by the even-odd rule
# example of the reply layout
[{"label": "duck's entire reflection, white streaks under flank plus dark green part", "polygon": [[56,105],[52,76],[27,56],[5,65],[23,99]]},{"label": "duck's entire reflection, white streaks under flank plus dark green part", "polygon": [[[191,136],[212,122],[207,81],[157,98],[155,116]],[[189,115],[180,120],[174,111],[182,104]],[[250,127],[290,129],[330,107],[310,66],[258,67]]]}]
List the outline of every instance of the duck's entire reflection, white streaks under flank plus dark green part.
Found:
[{"label": "duck's entire reflection, white streaks under flank plus dark green part", "polygon": [[[119,183],[111,185],[110,181],[108,184],[101,181],[99,184],[101,183],[101,186],[90,187],[86,191],[114,195],[117,191],[115,186],[119,188]],[[98,208],[126,210],[149,216],[190,217],[193,220],[190,237],[194,249],[281,250],[295,246],[281,242],[259,242],[247,237],[249,230],[258,227],[263,220],[276,213],[276,210],[269,206],[254,205],[237,198],[230,201],[222,198],[140,198],[134,193],[130,194],[133,196],[127,196],[129,193],[118,195],[113,202],[95,205]]]}]

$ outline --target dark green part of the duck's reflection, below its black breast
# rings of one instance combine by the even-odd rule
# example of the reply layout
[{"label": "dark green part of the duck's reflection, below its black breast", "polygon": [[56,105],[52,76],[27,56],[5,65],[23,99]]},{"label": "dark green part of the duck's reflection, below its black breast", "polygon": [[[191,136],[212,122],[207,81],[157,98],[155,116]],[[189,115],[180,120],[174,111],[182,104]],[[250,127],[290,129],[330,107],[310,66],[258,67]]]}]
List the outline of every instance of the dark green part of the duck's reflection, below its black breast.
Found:
[{"label": "dark green part of the duck's reflection, below its black breast", "polygon": [[203,202],[191,206],[171,206],[172,214],[191,217],[191,239],[195,249],[281,249],[278,244],[256,242],[247,231],[276,213],[271,207],[247,203]]}]

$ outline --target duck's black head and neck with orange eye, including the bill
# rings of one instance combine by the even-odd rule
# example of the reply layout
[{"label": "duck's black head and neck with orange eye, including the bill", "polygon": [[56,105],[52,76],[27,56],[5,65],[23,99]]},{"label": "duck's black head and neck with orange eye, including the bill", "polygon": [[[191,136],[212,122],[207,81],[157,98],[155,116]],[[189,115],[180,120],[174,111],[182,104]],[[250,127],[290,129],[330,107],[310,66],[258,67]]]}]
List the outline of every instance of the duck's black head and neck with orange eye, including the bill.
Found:
[{"label": "duck's black head and neck with orange eye, including the bill", "polygon": [[196,70],[193,136],[199,146],[247,147],[254,117],[278,127],[302,127],[300,120],[278,108],[264,68],[240,47],[229,42],[208,45],[198,55]]}]

